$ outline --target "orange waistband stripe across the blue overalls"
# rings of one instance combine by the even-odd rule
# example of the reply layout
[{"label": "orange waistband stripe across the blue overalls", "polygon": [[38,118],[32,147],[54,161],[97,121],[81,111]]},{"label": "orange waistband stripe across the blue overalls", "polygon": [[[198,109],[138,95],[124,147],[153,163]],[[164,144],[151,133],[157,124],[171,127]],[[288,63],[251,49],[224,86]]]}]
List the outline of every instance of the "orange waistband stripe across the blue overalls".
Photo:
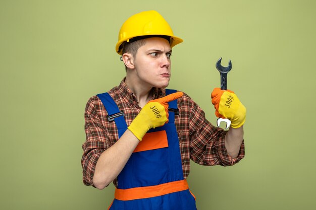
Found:
[{"label": "orange waistband stripe across the blue overalls", "polygon": [[148,197],[156,197],[166,195],[173,192],[179,192],[189,189],[186,179],[165,184],[148,186],[148,187],[135,187],[130,189],[115,189],[114,197],[118,200],[135,200]]}]

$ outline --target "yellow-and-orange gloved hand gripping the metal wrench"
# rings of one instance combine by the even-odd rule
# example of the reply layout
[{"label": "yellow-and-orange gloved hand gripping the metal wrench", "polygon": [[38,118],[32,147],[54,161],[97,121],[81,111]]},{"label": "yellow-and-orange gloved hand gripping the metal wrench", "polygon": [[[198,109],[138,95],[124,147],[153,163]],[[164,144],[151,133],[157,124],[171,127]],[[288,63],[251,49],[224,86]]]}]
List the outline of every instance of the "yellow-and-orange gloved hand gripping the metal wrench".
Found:
[{"label": "yellow-and-orange gloved hand gripping the metal wrench", "polygon": [[239,101],[233,91],[215,88],[211,97],[217,117],[229,119],[232,128],[238,128],[244,124],[246,107]]}]

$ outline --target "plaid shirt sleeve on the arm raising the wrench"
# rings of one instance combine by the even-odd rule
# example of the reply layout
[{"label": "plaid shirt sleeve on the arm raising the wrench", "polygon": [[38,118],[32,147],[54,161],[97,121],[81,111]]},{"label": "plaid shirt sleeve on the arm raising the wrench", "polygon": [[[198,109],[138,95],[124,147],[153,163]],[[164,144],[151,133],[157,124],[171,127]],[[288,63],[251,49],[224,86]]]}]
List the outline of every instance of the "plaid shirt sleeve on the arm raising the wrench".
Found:
[{"label": "plaid shirt sleeve on the arm raising the wrench", "polygon": [[204,111],[192,100],[190,105],[190,158],[206,166],[231,166],[245,156],[244,142],[238,157],[231,158],[225,147],[226,130],[215,127],[206,118]]}]

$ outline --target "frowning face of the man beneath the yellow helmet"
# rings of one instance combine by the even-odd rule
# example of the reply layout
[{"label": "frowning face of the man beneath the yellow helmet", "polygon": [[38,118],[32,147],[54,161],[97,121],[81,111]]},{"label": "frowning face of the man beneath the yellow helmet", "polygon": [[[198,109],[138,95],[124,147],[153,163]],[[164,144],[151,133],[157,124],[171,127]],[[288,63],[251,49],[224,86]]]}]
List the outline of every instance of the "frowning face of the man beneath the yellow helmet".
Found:
[{"label": "frowning face of the man beneath the yellow helmet", "polygon": [[171,77],[172,50],[164,38],[147,38],[134,56],[135,82],[144,88],[166,88]]}]

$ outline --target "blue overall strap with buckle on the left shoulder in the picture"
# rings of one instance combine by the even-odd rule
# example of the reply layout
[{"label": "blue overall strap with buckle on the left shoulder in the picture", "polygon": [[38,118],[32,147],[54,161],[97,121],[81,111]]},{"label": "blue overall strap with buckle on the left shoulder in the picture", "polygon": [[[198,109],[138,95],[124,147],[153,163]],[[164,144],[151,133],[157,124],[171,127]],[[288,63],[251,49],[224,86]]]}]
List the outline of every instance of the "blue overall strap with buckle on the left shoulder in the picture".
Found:
[{"label": "blue overall strap with buckle on the left shoulder in the picture", "polygon": [[119,137],[121,137],[127,129],[127,124],[124,119],[124,112],[119,110],[118,105],[115,103],[109,93],[101,93],[97,94],[96,96],[101,100],[104,108],[106,108],[109,121],[115,121],[119,131]]}]

